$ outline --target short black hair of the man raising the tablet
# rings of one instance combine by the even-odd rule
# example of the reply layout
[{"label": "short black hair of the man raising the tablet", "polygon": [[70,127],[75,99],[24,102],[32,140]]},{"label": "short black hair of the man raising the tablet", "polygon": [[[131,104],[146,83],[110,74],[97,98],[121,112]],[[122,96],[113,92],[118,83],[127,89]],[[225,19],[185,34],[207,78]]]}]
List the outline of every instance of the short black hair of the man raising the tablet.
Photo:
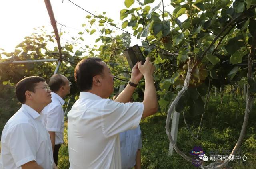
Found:
[{"label": "short black hair of the man raising the tablet", "polygon": [[92,78],[103,74],[104,66],[100,64],[101,61],[98,57],[91,57],[76,65],[75,81],[80,91],[92,89]]}]

